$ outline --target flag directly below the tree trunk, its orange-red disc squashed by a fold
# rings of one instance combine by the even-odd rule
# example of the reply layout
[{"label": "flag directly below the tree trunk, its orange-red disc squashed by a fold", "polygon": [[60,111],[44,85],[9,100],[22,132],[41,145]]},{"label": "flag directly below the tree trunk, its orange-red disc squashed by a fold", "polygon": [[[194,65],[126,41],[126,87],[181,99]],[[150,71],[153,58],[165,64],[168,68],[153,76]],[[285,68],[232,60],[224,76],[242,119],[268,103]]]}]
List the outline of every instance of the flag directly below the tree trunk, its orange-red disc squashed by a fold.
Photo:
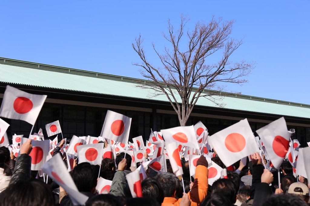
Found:
[{"label": "flag directly below the tree trunk, its orange-red disc squashed by a fold", "polygon": [[199,149],[194,126],[174,127],[161,130],[166,142],[176,142],[184,146]]}]

